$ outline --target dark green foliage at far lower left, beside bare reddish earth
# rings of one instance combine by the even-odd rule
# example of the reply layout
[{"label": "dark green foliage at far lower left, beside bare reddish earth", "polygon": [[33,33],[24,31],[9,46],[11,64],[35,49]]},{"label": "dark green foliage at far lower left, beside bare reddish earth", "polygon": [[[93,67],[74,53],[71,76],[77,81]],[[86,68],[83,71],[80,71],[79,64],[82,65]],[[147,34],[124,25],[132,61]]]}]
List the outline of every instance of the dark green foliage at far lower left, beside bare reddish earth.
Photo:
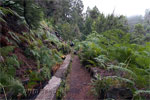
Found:
[{"label": "dark green foliage at far lower left, beside bare reddish earth", "polygon": [[[16,68],[20,68],[20,63],[16,55],[9,55],[13,52],[14,46],[6,46],[0,48],[4,62],[0,62],[0,84],[4,87],[4,90],[11,92],[13,95],[23,94],[25,95],[25,89],[22,83],[15,79]],[[3,90],[3,91],[4,91]]]}]

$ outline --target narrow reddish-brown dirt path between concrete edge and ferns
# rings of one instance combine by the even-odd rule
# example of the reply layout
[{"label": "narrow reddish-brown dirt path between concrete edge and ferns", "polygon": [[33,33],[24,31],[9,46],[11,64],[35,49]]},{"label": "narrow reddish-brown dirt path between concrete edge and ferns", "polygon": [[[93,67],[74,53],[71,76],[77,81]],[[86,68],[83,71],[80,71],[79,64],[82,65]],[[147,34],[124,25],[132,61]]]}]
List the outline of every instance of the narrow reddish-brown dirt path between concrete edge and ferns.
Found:
[{"label": "narrow reddish-brown dirt path between concrete edge and ferns", "polygon": [[90,74],[81,66],[78,56],[73,59],[68,78],[70,89],[65,96],[65,100],[94,100],[94,96],[90,92]]}]

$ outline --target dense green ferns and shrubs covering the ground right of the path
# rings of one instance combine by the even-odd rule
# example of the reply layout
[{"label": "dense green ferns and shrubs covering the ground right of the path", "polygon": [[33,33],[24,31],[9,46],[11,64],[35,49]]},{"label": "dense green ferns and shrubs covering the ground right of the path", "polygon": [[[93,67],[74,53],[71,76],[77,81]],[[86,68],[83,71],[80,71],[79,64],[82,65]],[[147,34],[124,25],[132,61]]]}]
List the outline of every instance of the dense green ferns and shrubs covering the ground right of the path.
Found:
[{"label": "dense green ferns and shrubs covering the ground right of the path", "polygon": [[[116,88],[129,89],[135,100],[149,98],[150,39],[148,38],[150,33],[148,27],[150,24],[147,18],[150,17],[146,17],[149,16],[147,13],[150,14],[150,11],[146,12],[143,23],[134,25],[131,33],[129,33],[129,26],[124,23],[125,19],[120,21],[122,16],[117,17],[113,14],[103,17],[108,23],[103,23],[104,27],[97,28],[102,22],[102,20],[97,21],[102,16],[99,13],[97,19],[93,19],[96,20],[93,22],[96,25],[91,26],[92,32],[86,39],[82,42],[75,41],[75,49],[79,51],[81,61],[86,67],[98,67],[110,73],[110,75],[102,76],[97,74],[97,79],[93,81],[93,91],[98,98],[111,98],[112,96],[110,97],[108,93],[113,89],[113,92],[117,91]],[[111,20],[109,20],[110,17]],[[115,22],[115,25],[112,24],[109,27],[111,21]],[[124,94],[126,92],[127,90]],[[116,96],[114,99],[131,99],[114,95]]]}]

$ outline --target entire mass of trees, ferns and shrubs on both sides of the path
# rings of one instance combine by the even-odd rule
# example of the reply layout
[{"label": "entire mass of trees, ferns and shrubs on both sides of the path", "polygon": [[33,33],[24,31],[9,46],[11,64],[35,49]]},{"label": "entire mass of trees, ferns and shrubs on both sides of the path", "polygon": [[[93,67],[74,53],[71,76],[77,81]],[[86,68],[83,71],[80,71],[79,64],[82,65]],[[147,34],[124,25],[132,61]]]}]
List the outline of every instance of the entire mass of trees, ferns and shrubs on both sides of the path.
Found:
[{"label": "entire mass of trees, ferns and shrubs on both sides of the path", "polygon": [[103,99],[112,88],[150,98],[150,10],[145,16],[83,13],[81,0],[0,0],[0,99],[20,99],[42,87],[70,53],[86,67],[111,73],[93,80]]}]

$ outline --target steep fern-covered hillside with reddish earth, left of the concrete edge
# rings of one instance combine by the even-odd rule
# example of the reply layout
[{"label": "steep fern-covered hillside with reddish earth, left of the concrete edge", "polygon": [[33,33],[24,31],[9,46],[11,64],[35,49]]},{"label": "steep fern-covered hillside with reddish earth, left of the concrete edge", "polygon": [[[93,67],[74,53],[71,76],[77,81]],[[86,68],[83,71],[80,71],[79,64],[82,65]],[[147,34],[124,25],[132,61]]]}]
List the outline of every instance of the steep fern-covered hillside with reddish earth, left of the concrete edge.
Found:
[{"label": "steep fern-covered hillside with reddish earth, left of the concrete edge", "polygon": [[32,98],[33,89],[42,89],[70,48],[46,21],[40,22],[39,29],[30,30],[16,12],[3,7],[0,10],[0,86],[5,89],[0,97]]}]

